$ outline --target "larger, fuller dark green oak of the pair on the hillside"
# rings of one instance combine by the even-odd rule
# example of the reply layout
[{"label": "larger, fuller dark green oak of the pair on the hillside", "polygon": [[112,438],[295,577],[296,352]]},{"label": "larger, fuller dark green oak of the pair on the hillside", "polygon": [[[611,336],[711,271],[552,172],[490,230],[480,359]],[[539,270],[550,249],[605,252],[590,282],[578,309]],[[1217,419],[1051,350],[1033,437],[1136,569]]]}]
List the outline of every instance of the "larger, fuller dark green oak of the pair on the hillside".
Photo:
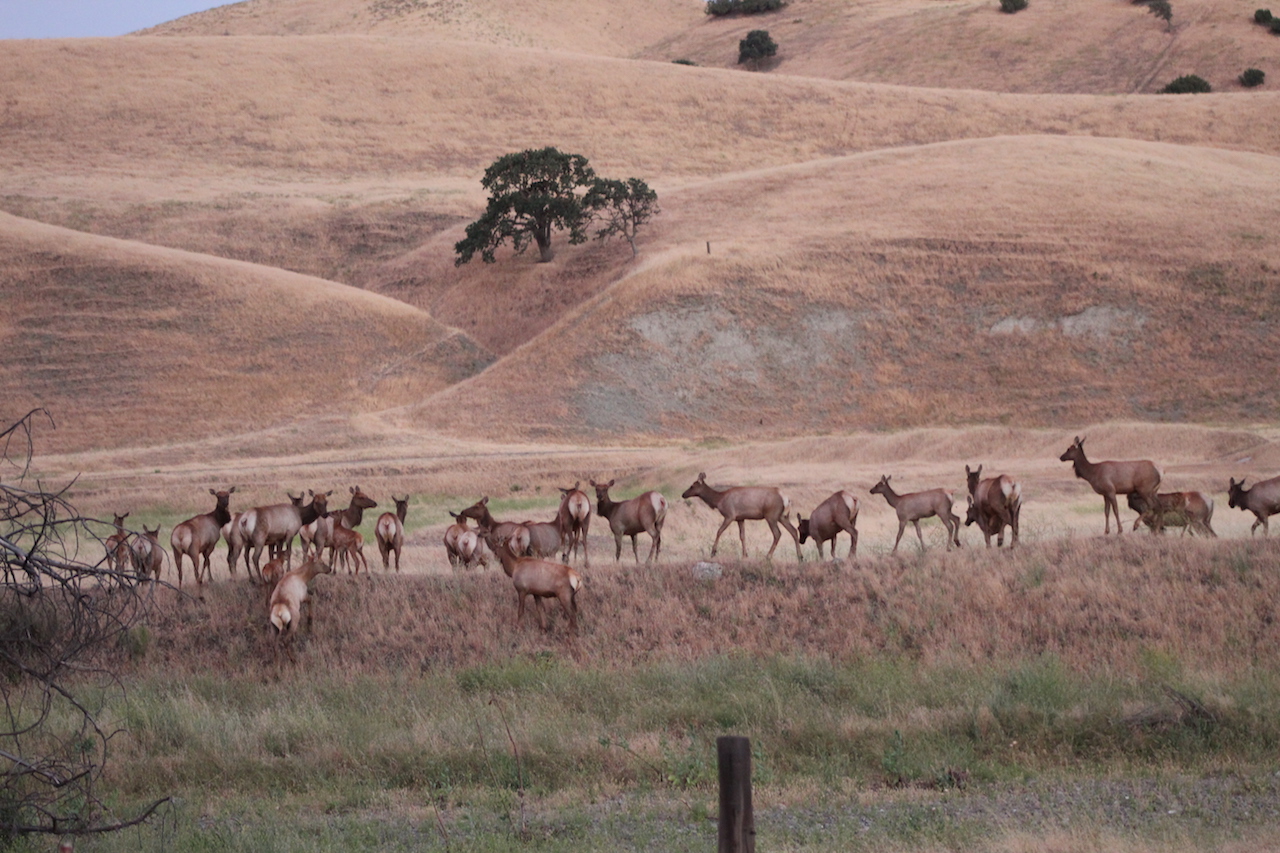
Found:
[{"label": "larger, fuller dark green oak of the pair on the hillside", "polygon": [[480,181],[489,191],[489,206],[467,225],[466,238],[454,243],[454,265],[466,264],[476,252],[492,264],[494,250],[507,240],[516,252],[525,251],[532,240],[539,260],[549,261],[556,255],[554,229],[568,231],[570,243],[584,242],[590,216],[579,191],[594,179],[595,173],[580,154],[548,147],[498,158]]}]

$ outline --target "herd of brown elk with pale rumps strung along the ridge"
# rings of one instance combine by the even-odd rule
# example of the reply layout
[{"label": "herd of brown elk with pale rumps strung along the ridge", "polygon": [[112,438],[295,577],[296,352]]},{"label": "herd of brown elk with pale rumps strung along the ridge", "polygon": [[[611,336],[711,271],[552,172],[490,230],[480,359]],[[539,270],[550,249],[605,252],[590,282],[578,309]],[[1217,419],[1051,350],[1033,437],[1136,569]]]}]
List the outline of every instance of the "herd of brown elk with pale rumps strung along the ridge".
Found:
[{"label": "herd of brown elk with pale rumps strung along the ridge", "polygon": [[[1216,537],[1211,525],[1213,517],[1213,498],[1203,492],[1160,492],[1162,471],[1149,460],[1130,461],[1091,461],[1084,452],[1084,439],[1076,437],[1059,457],[1071,462],[1076,478],[1083,479],[1103,501],[1103,533],[1111,532],[1111,517],[1115,516],[1116,533],[1121,533],[1124,523],[1120,519],[1117,498],[1125,496],[1129,508],[1138,514],[1133,529],[1146,525],[1152,533],[1160,533],[1166,526],[1183,528],[1184,533],[1198,533]],[[1019,520],[1023,506],[1023,488],[1012,476],[998,474],[983,476],[983,466],[977,470],[965,466],[968,494],[964,525],[978,525],[987,547],[996,538],[996,547],[1004,547],[1005,532],[1009,530],[1010,547],[1019,540]],[[955,492],[946,488],[933,488],[919,492],[899,493],[891,485],[892,478],[882,475],[868,492],[884,498],[897,516],[897,537],[893,540],[896,552],[902,540],[906,525],[915,529],[920,549],[924,535],[920,521],[937,517],[946,528],[946,548],[960,547],[960,516],[956,515]],[[631,538],[631,553],[640,561],[637,537],[649,537],[649,551],[645,562],[655,561],[662,555],[662,528],[667,519],[669,503],[655,491],[635,497],[614,501],[609,489],[614,480],[596,483],[590,480],[595,491],[593,505],[586,492],[575,483],[571,488],[561,488],[559,506],[554,517],[547,521],[504,520],[499,521],[489,511],[489,498],[483,497],[471,506],[449,512],[453,523],[443,537],[444,551],[454,567],[488,566],[489,557],[495,557],[503,573],[511,579],[516,592],[516,624],[524,620],[526,599],[532,598],[538,622],[545,629],[543,599],[554,598],[568,620],[570,635],[577,631],[577,593],[582,588],[582,575],[568,564],[580,558],[584,569],[590,567],[588,533],[593,510],[602,523],[608,524],[613,535],[614,561],[622,557],[622,539]],[[311,587],[316,576],[329,574],[334,566],[344,566],[348,574],[369,574],[369,562],[364,553],[364,535],[357,528],[364,521],[366,510],[378,508],[378,503],[358,485],[349,487],[348,503],[343,508],[329,508],[333,491],[307,491],[289,497],[288,503],[256,506],[243,512],[230,508],[236,487],[225,491],[209,489],[214,498],[211,511],[193,516],[173,528],[169,537],[178,587],[183,585],[183,565],[191,562],[192,575],[197,585],[211,579],[210,557],[215,546],[227,543],[227,565],[232,575],[237,573],[241,561],[250,580],[270,590],[268,596],[268,622],[276,638],[276,648],[291,638],[306,619],[310,622]],[[780,489],[767,485],[735,485],[718,488],[707,483],[701,473],[681,494],[686,501],[698,500],[721,516],[721,523],[710,544],[714,557],[721,535],[737,525],[742,557],[746,557],[746,521],[764,521],[773,534],[773,542],[765,558],[772,560],[773,552],[782,539],[782,530],[795,543],[796,560],[803,560],[801,546],[812,538],[818,546],[819,558],[826,558],[826,544],[831,543],[831,556],[836,557],[836,543],[841,533],[849,535],[849,558],[858,553],[858,512],[860,501],[852,492],[841,489],[822,501],[804,517],[795,514],[791,521],[792,505]],[[307,500],[310,498],[310,500]],[[1244,479],[1239,483],[1233,478],[1228,487],[1228,500],[1231,508],[1252,512],[1256,521],[1251,534],[1262,526],[1267,535],[1267,519],[1280,512],[1280,476],[1254,483],[1245,488]],[[410,496],[392,496],[394,512],[383,512],[374,524],[374,538],[381,556],[383,570],[389,571],[394,564],[401,567],[401,552],[404,547],[404,524],[407,520]],[[125,565],[140,578],[157,580],[160,578],[164,548],[160,544],[159,526],[151,530],[143,526],[141,534],[132,534],[124,528],[128,512],[116,515],[113,520],[114,533],[104,540],[105,561],[116,571],[124,571]],[[472,526],[474,525],[474,526]],[[293,569],[293,540],[301,540],[302,562]],[[262,565],[262,552],[268,552],[268,562]],[[328,551],[328,558],[325,558]],[[579,557],[580,555],[580,557]],[[292,656],[292,652],[291,652]]]}]

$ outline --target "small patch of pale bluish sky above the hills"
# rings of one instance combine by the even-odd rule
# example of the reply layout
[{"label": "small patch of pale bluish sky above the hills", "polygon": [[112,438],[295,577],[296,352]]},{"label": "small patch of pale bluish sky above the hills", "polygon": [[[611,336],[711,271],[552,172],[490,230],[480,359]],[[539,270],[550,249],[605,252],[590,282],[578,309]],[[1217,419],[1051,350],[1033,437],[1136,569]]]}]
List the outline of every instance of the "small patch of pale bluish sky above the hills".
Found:
[{"label": "small patch of pale bluish sky above the hills", "polygon": [[0,0],[0,38],[123,36],[232,0]]}]

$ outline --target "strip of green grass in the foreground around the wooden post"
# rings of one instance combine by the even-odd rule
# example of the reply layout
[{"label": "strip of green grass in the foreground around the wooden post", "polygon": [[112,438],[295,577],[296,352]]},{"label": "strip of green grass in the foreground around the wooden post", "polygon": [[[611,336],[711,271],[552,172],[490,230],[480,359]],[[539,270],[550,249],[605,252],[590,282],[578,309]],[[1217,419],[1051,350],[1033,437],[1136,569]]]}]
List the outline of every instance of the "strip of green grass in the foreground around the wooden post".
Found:
[{"label": "strip of green grass in the foreground around the wooden post", "polygon": [[[1199,681],[1164,653],[1148,666],[1158,680],[1071,672],[1053,656],[611,670],[534,654],[402,678],[140,678],[95,697],[128,733],[110,783],[122,802],[177,800],[155,827],[79,849],[444,849],[445,835],[449,849],[709,849],[721,734],[753,739],[773,849],[969,848],[1010,831],[991,812],[1001,798],[1098,784],[1062,808],[1120,831],[1128,818],[1100,820],[1093,799],[1144,779],[1189,785],[1187,800],[1229,774],[1280,800],[1280,678]],[[1169,680],[1212,720],[1181,713]],[[1137,831],[1160,839],[1167,824]],[[1204,824],[1176,834],[1257,829]]]}]

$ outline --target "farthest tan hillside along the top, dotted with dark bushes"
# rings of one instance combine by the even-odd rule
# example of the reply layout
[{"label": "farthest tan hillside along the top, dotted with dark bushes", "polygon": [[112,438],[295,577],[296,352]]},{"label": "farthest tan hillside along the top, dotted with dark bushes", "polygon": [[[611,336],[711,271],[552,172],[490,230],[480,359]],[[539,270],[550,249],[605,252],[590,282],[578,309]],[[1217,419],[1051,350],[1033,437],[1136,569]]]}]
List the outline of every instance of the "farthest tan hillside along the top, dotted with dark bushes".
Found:
[{"label": "farthest tan hillside along the top, dotted with dark bushes", "polygon": [[1172,26],[1140,5],[1032,3],[1007,15],[995,0],[791,0],[782,10],[709,18],[699,0],[556,0],[536,14],[494,0],[251,0],[188,15],[142,35],[424,36],[504,47],[733,68],[737,42],[765,28],[780,45],[774,74],[993,92],[1155,92],[1197,73],[1239,88],[1245,68],[1280,76],[1280,46],[1253,9],[1179,0]]}]

